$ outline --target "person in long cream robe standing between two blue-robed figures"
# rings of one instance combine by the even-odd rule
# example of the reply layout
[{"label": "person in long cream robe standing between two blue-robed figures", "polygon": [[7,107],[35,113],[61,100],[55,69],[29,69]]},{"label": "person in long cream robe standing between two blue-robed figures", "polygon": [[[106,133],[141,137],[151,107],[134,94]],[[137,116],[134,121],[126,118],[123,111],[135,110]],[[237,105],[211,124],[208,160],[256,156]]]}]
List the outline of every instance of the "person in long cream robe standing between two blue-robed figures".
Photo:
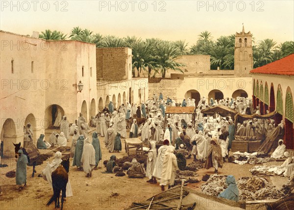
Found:
[{"label": "person in long cream robe standing between two blue-robed figures", "polygon": [[92,171],[95,167],[95,149],[89,138],[84,140],[81,163],[83,163],[83,170],[86,173],[86,177],[92,177]]}]

